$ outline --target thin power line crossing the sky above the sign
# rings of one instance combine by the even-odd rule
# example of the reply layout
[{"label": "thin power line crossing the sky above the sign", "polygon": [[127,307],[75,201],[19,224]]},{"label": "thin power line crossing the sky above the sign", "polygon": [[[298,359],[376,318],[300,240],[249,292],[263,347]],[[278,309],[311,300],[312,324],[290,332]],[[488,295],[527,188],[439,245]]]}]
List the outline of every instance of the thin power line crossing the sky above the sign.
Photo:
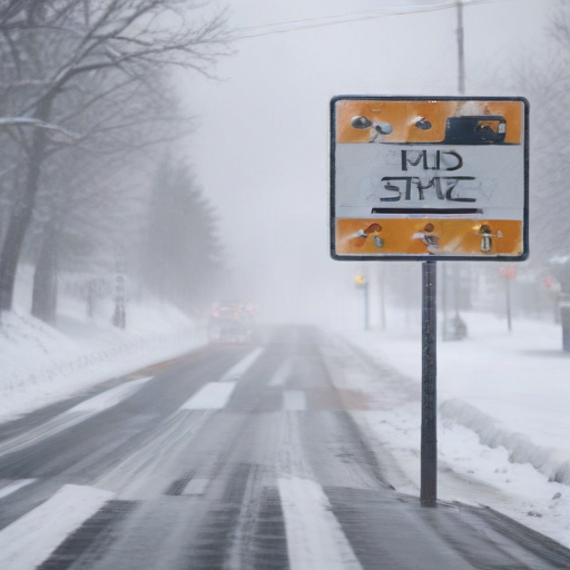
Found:
[{"label": "thin power line crossing the sky above the sign", "polygon": [[[489,4],[489,3],[500,3],[500,2],[512,2],[515,0],[471,0],[470,2],[465,2],[463,6],[469,8],[470,6],[475,4]],[[268,23],[264,26],[253,26],[249,28],[238,28],[230,36],[230,39],[246,39],[246,38],[255,38],[261,36],[271,36],[274,33],[288,33],[293,31],[303,31],[313,28],[324,28],[327,26],[338,26],[342,23],[350,23],[362,20],[377,20],[381,18],[393,18],[396,16],[410,16],[417,13],[428,13],[435,12],[439,10],[450,10],[455,9],[455,3],[449,4],[439,4],[431,6],[428,8],[422,8],[417,10],[401,10],[396,12],[377,12],[377,11],[366,11],[366,12],[355,12],[351,14],[338,14],[338,16],[323,16],[320,18],[306,18],[303,20],[288,20],[284,22],[275,22]]]}]

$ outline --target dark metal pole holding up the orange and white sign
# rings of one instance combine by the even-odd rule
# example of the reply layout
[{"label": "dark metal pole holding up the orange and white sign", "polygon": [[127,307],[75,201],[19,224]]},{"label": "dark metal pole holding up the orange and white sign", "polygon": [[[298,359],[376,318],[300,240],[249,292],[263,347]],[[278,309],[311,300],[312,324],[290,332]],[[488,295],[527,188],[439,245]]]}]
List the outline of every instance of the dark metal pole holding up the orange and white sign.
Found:
[{"label": "dark metal pole holding up the orange and white sign", "polygon": [[438,502],[436,277],[435,262],[422,263],[422,441],[420,489],[422,507],[435,507]]}]

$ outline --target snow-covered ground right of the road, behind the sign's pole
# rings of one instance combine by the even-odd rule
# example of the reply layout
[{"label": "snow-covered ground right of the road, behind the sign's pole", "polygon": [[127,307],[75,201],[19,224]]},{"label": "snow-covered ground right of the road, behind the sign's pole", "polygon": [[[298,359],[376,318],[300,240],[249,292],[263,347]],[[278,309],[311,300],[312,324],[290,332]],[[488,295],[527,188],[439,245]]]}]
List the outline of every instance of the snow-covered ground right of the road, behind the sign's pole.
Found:
[{"label": "snow-covered ground right of the road, behind the sign's pole", "polygon": [[[469,337],[438,343],[439,497],[482,503],[570,547],[570,354],[560,325],[462,315]],[[344,333],[373,366],[334,347],[337,384],[367,394],[356,421],[393,454],[389,480],[420,487],[421,325]],[[441,323],[440,323],[441,328]],[[382,373],[374,377],[374,370]],[[384,464],[386,460],[384,458]]]}]

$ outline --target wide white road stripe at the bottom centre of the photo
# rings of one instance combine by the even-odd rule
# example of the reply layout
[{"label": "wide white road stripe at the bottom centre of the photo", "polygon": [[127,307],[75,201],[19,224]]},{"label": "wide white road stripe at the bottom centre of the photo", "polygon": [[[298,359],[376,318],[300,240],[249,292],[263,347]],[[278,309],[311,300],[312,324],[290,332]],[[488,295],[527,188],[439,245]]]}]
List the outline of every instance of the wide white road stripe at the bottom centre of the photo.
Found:
[{"label": "wide white road stripe at the bottom centre of the photo", "polygon": [[362,570],[321,485],[279,479],[291,570]]}]

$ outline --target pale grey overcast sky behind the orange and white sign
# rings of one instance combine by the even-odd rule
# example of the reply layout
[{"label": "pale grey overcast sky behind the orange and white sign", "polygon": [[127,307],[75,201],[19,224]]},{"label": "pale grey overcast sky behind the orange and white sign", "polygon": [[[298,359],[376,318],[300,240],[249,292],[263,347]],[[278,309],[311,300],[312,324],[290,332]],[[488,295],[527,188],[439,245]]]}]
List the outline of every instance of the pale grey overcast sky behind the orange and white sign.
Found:
[{"label": "pale grey overcast sky behind the orange and white sign", "polygon": [[[552,1],[465,2],[468,95],[505,94],[514,69],[543,42]],[[240,39],[214,70],[220,79],[181,78],[198,117],[185,154],[218,212],[240,294],[267,316],[354,316],[353,277],[373,275],[380,264],[330,259],[328,101],[456,95],[453,4],[229,0],[229,26]]]}]

